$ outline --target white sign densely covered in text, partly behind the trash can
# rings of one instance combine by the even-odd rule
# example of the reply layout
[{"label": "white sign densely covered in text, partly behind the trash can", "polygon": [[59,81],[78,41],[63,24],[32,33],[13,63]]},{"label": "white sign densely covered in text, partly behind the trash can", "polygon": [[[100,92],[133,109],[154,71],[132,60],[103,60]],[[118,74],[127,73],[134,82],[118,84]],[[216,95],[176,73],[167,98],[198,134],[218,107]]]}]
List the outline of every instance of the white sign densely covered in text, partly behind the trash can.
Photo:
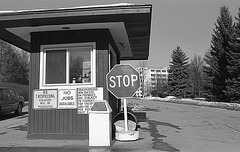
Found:
[{"label": "white sign densely covered in text, partly behind the trash can", "polygon": [[78,88],[78,114],[88,114],[95,100],[103,100],[103,88]]}]

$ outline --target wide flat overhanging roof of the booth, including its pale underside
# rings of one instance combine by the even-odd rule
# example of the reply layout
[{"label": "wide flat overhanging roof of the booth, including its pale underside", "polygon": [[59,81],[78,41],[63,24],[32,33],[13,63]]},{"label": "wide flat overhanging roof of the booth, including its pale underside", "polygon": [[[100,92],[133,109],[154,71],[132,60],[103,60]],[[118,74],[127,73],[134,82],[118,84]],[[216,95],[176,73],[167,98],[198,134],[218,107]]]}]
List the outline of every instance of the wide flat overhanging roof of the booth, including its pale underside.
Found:
[{"label": "wide flat overhanging roof of the booth, including its pale underside", "polygon": [[151,4],[129,3],[0,11],[0,39],[31,52],[31,32],[108,28],[121,60],[146,60],[151,15]]}]

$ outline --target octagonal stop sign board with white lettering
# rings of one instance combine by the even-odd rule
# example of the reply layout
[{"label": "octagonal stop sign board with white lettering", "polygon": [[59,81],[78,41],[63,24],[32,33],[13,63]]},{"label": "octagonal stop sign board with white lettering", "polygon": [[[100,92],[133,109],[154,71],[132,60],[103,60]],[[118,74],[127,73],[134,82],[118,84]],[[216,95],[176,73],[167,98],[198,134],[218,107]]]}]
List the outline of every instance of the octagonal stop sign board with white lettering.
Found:
[{"label": "octagonal stop sign board with white lettering", "polygon": [[116,98],[132,97],[140,88],[140,77],[131,65],[115,65],[107,74],[107,90]]}]

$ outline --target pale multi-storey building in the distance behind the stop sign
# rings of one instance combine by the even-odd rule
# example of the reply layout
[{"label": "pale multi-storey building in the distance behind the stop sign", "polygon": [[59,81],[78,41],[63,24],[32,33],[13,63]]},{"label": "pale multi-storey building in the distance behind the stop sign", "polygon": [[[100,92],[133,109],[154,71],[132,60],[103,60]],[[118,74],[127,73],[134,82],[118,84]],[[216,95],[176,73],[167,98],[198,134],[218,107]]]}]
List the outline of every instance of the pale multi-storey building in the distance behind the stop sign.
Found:
[{"label": "pale multi-storey building in the distance behind the stop sign", "polygon": [[150,92],[156,89],[159,83],[168,82],[168,66],[163,68],[137,67],[136,70],[139,72],[141,79],[141,88],[135,93],[136,97],[150,95]]}]

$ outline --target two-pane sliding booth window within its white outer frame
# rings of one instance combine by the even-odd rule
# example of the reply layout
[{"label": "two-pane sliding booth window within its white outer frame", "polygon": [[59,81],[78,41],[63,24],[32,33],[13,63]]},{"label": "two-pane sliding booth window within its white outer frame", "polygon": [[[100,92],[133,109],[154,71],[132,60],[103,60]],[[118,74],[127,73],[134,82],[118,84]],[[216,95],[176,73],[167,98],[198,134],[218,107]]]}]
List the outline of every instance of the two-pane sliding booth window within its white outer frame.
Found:
[{"label": "two-pane sliding booth window within its white outer frame", "polygon": [[45,47],[43,85],[93,84],[93,46]]}]

